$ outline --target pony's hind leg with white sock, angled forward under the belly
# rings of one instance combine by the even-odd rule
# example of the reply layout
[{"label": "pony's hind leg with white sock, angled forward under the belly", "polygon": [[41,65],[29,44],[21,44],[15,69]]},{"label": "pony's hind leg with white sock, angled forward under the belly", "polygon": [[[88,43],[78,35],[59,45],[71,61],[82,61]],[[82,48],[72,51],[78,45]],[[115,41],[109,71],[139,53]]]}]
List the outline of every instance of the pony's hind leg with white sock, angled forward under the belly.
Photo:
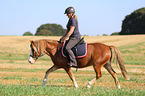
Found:
[{"label": "pony's hind leg with white sock, angled forward under the belly", "polygon": [[93,66],[94,70],[96,72],[96,78],[94,78],[93,80],[91,80],[88,84],[87,84],[87,88],[90,88],[91,85],[102,76],[101,73],[101,66]]}]

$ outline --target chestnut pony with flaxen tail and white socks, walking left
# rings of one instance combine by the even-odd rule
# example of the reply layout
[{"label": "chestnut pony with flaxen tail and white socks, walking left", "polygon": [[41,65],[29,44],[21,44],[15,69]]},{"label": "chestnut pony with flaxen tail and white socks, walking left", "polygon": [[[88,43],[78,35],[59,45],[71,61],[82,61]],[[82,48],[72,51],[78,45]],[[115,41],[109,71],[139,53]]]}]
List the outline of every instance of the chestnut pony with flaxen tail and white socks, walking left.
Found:
[{"label": "chestnut pony with flaxen tail and white socks, walking left", "polygon": [[[30,41],[31,54],[29,58],[30,63],[35,63],[35,61],[44,54],[47,54],[51,57],[54,65],[46,71],[45,77],[43,79],[43,85],[47,83],[48,75],[60,68],[63,68],[66,73],[69,75],[75,87],[78,87],[75,77],[71,71],[71,67],[67,65],[69,60],[64,58],[61,54],[61,49],[59,43],[55,40],[37,40]],[[63,44],[61,44],[63,45]],[[62,46],[61,46],[62,47]],[[120,88],[115,71],[111,66],[112,57],[118,62],[121,72],[126,80],[129,80],[127,71],[124,66],[124,62],[121,56],[120,51],[114,46],[107,46],[102,43],[89,43],[87,45],[87,55],[83,58],[78,58],[78,68],[84,68],[93,65],[93,68],[96,73],[96,77],[91,80],[87,87],[90,88],[95,80],[99,79],[102,76],[101,67],[103,66],[114,78],[117,88]]]}]

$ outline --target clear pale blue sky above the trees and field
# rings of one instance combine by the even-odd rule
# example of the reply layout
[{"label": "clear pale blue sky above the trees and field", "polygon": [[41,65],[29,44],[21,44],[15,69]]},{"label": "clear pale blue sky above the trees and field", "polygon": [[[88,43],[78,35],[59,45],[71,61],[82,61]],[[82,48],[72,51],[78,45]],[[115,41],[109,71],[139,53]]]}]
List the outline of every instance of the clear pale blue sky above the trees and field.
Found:
[{"label": "clear pale blue sky above the trees and field", "polygon": [[66,28],[64,11],[74,7],[81,35],[97,36],[120,32],[125,16],[145,7],[145,0],[1,0],[0,35],[35,34],[42,24]]}]

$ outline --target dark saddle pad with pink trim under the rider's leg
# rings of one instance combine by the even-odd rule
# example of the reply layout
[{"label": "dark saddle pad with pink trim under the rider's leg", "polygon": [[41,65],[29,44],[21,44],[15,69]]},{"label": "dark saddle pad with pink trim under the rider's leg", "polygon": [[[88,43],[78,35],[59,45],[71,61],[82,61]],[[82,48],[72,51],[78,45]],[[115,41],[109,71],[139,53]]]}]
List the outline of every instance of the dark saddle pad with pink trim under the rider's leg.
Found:
[{"label": "dark saddle pad with pink trim under the rider's leg", "polygon": [[[66,43],[64,42],[61,53],[62,53],[63,57],[67,58],[67,53],[65,51],[65,45],[66,45]],[[77,45],[75,48],[72,48],[72,51],[76,58],[85,57],[87,55],[87,43],[81,43],[81,44]]]}]

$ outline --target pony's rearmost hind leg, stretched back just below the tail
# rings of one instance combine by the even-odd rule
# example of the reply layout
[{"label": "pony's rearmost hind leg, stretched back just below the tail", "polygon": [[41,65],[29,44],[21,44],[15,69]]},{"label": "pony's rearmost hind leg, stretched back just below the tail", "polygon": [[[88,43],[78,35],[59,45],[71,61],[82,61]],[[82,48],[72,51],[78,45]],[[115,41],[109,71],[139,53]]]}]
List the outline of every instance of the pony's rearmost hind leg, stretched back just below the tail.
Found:
[{"label": "pony's rearmost hind leg, stretched back just below the tail", "polygon": [[116,72],[113,70],[113,68],[111,67],[111,62],[108,61],[105,65],[104,65],[104,68],[112,75],[112,77],[114,78],[114,81],[115,81],[115,85],[118,89],[120,89],[120,84],[119,84],[119,81],[117,79],[117,76],[116,76]]}]

